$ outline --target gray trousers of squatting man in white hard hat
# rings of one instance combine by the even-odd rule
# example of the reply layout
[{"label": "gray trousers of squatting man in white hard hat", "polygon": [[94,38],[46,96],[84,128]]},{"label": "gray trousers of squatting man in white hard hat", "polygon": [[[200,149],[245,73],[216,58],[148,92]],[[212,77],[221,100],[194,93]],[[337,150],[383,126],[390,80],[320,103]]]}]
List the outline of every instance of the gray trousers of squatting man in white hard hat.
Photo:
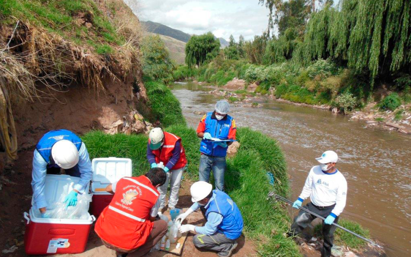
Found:
[{"label": "gray trousers of squatting man in white hard hat", "polygon": [[212,235],[196,234],[193,243],[197,248],[226,252],[234,245],[235,240],[229,239],[223,233],[214,233]]}]

